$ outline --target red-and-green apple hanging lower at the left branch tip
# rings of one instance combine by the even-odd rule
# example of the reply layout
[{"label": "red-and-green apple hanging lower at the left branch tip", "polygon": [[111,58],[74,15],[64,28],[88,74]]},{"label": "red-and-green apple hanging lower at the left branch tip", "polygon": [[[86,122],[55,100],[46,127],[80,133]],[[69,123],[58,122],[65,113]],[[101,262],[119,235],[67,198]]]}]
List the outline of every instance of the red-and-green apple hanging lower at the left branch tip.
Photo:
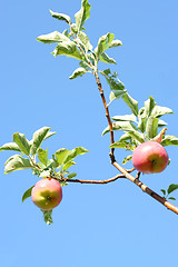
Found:
[{"label": "red-and-green apple hanging lower at the left branch tip", "polygon": [[31,198],[33,204],[42,210],[53,209],[62,199],[61,185],[52,178],[41,179],[32,188]]}]

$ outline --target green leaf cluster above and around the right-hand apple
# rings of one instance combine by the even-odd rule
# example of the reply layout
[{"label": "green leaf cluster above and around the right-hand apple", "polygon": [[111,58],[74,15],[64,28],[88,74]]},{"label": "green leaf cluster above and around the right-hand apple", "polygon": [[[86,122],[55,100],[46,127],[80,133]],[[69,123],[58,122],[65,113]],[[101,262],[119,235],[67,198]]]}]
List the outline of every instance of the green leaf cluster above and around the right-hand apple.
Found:
[{"label": "green leaf cluster above and around the right-hand apple", "polygon": [[[103,71],[110,88],[113,91],[119,88],[120,81],[116,75],[111,75],[110,70]],[[109,78],[108,78],[109,77]],[[121,83],[122,86],[122,83]],[[118,89],[119,90],[119,89]],[[123,90],[123,88],[122,88]],[[145,106],[138,109],[138,101],[132,99],[128,92],[120,96],[132,113],[112,117],[113,131],[121,130],[123,135],[118,141],[110,145],[110,148],[125,148],[134,151],[141,142],[157,140],[165,146],[178,146],[178,138],[175,136],[165,135],[167,122],[160,119],[164,115],[172,113],[172,110],[167,107],[158,106],[152,97],[145,101]],[[113,99],[115,100],[115,99]],[[161,129],[162,128],[162,129]],[[103,130],[102,135],[110,131],[109,126]],[[131,155],[123,159],[122,164],[128,162]]]}]

